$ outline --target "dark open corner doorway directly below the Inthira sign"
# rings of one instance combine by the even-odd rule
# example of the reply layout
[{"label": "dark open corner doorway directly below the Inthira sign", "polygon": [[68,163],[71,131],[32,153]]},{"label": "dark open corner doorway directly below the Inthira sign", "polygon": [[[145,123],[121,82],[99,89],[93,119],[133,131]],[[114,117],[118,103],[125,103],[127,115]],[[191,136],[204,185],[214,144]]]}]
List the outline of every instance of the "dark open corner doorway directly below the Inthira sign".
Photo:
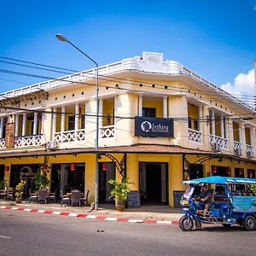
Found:
[{"label": "dark open corner doorway directly below the Inthira sign", "polygon": [[168,203],[167,163],[140,163],[142,204]]}]

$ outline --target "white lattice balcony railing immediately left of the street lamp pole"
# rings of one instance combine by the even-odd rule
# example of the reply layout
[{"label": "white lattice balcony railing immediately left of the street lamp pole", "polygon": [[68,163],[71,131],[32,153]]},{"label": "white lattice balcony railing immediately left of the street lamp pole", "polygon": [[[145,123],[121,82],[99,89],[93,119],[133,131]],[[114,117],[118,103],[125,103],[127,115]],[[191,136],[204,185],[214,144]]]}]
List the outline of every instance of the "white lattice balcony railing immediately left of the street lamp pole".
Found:
[{"label": "white lattice balcony railing immediately left of the street lamp pole", "polygon": [[85,130],[73,130],[73,131],[60,131],[55,132],[54,140],[57,143],[70,143],[74,141],[84,141],[85,140]]}]

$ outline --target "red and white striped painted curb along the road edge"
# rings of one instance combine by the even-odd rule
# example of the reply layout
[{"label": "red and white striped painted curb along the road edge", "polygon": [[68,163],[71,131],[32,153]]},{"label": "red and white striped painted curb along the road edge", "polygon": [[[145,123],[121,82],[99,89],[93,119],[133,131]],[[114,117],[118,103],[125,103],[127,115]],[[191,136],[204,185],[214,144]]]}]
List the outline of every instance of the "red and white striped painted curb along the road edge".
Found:
[{"label": "red and white striped painted curb along the road edge", "polygon": [[38,213],[45,213],[45,214],[55,214],[55,215],[61,215],[61,216],[78,217],[78,218],[94,218],[94,219],[100,219],[100,220],[118,221],[118,222],[126,222],[126,223],[178,224],[177,220],[167,221],[167,220],[155,220],[155,219],[112,218],[112,217],[106,217],[103,215],[91,215],[91,214],[71,213],[71,212],[54,212],[54,211],[44,211],[44,210],[22,208],[22,207],[0,207],[0,209],[17,210],[17,211],[23,211],[23,212],[38,212]]}]

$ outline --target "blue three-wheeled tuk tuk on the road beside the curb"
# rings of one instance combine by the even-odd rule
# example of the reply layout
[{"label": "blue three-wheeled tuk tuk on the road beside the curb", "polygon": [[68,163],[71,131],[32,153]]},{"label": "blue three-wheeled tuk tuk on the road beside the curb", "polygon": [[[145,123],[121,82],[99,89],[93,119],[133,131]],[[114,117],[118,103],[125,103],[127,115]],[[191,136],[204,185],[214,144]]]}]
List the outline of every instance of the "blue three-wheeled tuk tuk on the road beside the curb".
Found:
[{"label": "blue three-wheeled tuk tuk on the road beside the curb", "polygon": [[[256,230],[256,178],[211,176],[183,184],[189,184],[189,188],[180,201],[184,213],[179,219],[181,230],[201,228],[201,224],[222,224],[226,228],[239,224],[245,230]],[[197,201],[204,184],[212,192],[207,211]]]}]

